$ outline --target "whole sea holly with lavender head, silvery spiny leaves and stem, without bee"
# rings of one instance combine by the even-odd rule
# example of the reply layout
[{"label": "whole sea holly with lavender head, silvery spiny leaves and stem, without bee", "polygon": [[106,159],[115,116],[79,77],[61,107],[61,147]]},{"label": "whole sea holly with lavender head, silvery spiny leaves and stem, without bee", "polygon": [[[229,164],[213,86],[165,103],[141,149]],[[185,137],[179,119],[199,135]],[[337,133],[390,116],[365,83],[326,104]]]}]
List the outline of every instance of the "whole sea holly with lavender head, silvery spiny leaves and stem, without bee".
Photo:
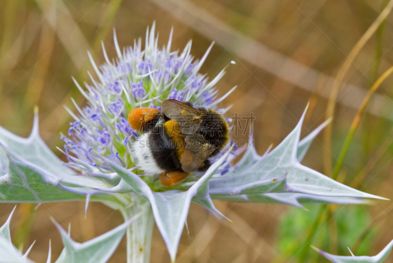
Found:
[{"label": "whole sea holly with lavender head, silvery spiny leaves and stem, without bee", "polygon": [[[26,139],[0,128],[0,146],[6,152],[0,151],[0,201],[85,200],[87,209],[91,200],[118,209],[126,221],[143,212],[127,227],[127,262],[140,263],[149,261],[154,222],[171,260],[175,260],[191,202],[225,217],[212,200],[303,207],[304,203],[360,204],[364,198],[382,199],[300,163],[312,140],[328,123],[300,141],[305,113],[281,144],[263,155],[258,155],[253,146],[244,149],[231,144],[233,147],[228,146],[211,160],[206,172],[193,172],[174,186],[164,187],[156,176],[145,176],[133,151],[140,133],[126,119],[132,109],[161,110],[162,101],[170,98],[216,109],[225,115],[226,109],[217,108],[234,90],[219,96],[215,88],[225,68],[211,81],[199,73],[212,46],[196,60],[190,54],[191,41],[182,52],[177,52],[170,50],[171,38],[172,32],[167,46],[159,48],[153,24],[146,32],[144,50],[139,40],[121,51],[114,34],[115,60],[108,58],[104,46],[106,62],[100,67],[89,54],[98,79],[90,75],[91,85],[84,84],[84,88],[74,80],[87,106],[81,109],[73,101],[77,113],[67,109],[74,120],[66,135],[61,135],[64,146],[59,148],[67,163],[62,163],[40,139],[37,112],[31,135]],[[241,160],[232,165],[242,151]]]}]

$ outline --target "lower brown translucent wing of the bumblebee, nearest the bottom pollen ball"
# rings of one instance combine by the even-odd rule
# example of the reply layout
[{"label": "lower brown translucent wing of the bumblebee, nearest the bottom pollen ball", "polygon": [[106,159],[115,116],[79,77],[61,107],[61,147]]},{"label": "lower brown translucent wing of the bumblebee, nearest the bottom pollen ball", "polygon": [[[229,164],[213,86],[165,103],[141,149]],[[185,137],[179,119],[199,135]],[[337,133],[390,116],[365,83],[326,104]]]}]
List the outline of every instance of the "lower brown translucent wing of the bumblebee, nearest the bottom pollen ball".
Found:
[{"label": "lower brown translucent wing of the bumblebee, nearest the bottom pollen ball", "polygon": [[180,163],[183,171],[191,173],[198,170],[216,147],[209,144],[209,142],[200,134],[187,136],[185,141],[186,149],[181,156]]}]

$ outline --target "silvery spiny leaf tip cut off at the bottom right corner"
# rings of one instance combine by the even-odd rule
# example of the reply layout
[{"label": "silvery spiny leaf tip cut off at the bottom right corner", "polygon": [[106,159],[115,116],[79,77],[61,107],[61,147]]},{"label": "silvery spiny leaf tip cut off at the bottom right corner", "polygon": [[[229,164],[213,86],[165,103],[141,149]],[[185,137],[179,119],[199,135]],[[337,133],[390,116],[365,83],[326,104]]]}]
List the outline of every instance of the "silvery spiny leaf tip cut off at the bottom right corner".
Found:
[{"label": "silvery spiny leaf tip cut off at the bottom right corner", "polygon": [[376,256],[368,257],[368,256],[335,256],[325,251],[322,251],[314,246],[311,246],[315,249],[318,253],[322,256],[327,258],[328,260],[334,263],[382,263],[386,260],[389,256],[392,247],[393,247],[393,240]]}]

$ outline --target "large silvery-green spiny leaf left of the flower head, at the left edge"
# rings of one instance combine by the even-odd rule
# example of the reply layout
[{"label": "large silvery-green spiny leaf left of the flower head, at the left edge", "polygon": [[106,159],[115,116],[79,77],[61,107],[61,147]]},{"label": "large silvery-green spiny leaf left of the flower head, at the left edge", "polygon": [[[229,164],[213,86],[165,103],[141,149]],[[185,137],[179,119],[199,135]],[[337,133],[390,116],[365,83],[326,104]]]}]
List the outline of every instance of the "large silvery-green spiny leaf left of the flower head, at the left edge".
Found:
[{"label": "large silvery-green spiny leaf left of the flower head, at the left edge", "polygon": [[[90,171],[94,174],[98,170],[91,166]],[[74,174],[62,165],[61,160],[40,138],[37,112],[28,138],[18,137],[0,127],[0,202],[83,200],[84,196],[102,193],[84,186],[107,187],[101,179]],[[63,186],[60,182],[68,183],[69,186]],[[115,201],[110,196],[95,197],[100,200],[108,198]]]}]

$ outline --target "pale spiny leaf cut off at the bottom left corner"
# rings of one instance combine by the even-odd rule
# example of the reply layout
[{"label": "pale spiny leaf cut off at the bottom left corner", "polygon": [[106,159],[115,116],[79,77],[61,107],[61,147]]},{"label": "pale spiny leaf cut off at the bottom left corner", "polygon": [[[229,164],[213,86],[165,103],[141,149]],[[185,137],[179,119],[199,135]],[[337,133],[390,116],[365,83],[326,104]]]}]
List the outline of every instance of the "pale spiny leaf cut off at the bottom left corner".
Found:
[{"label": "pale spiny leaf cut off at the bottom left corner", "polygon": [[11,243],[9,224],[15,207],[8,216],[7,221],[0,227],[0,263],[33,263],[27,258],[32,245],[25,255],[22,255],[22,253]]}]

